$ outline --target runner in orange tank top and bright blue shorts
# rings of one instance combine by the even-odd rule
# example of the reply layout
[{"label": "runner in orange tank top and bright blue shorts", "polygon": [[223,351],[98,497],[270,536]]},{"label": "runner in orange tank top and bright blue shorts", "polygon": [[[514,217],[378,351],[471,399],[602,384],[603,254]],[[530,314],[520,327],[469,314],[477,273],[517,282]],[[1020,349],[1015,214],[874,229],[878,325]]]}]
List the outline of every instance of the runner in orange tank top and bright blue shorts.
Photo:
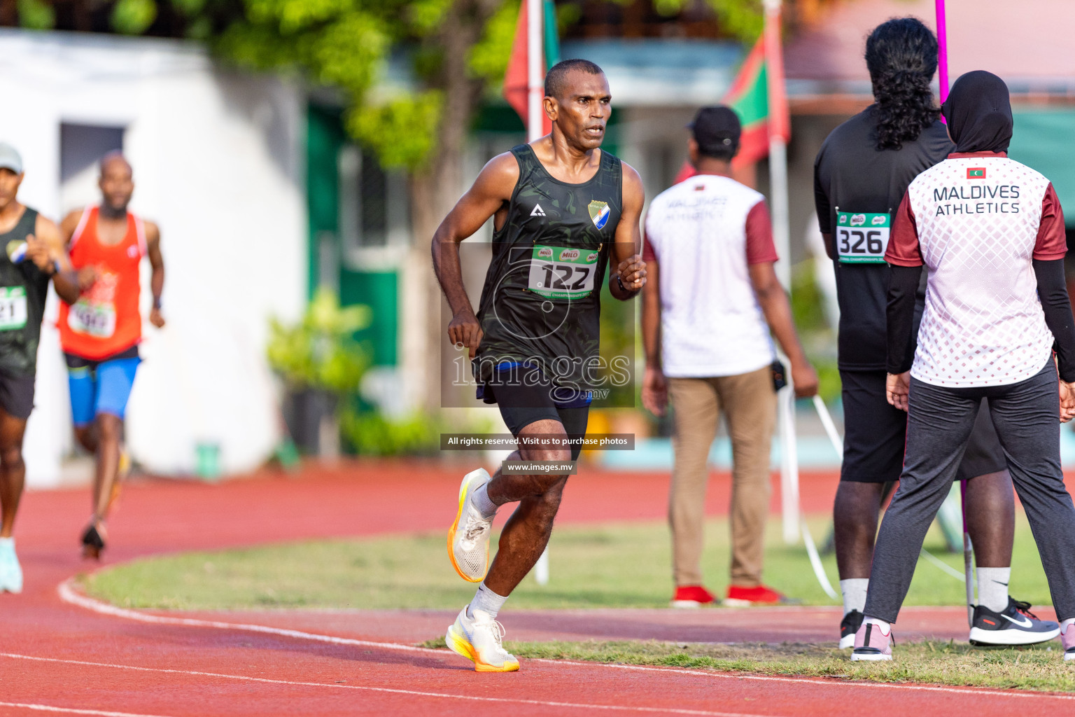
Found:
[{"label": "runner in orange tank top and bright blue shorts", "polygon": [[71,212],[60,225],[80,285],[88,287],[73,304],[60,305],[59,330],[75,436],[97,457],[94,512],[82,536],[83,555],[91,558],[100,558],[104,548],[104,520],[119,489],[119,474],[129,463],[120,444],[127,399],[141,361],[139,267],[146,256],[153,267],[149,321],[164,326],[160,230],[127,211],[134,182],[121,154],[101,160],[99,186],[101,204]]}]

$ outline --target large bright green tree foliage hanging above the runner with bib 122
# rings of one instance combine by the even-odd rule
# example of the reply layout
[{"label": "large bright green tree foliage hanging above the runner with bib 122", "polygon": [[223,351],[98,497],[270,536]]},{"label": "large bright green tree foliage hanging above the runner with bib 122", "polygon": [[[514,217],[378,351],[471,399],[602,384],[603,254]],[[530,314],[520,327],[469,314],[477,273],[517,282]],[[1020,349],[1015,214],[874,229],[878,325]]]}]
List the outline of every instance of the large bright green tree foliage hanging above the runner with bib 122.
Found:
[{"label": "large bright green tree foliage hanging above the runner with bib 122", "polygon": [[[191,2],[192,0],[184,0]],[[215,42],[235,63],[290,70],[339,89],[347,129],[388,168],[417,169],[436,149],[448,83],[440,69],[450,40],[449,13],[489,17],[468,52],[463,80],[497,80],[511,51],[516,0],[242,0],[243,17]],[[458,18],[454,18],[457,19]],[[408,60],[410,76],[386,77],[390,55]]]}]

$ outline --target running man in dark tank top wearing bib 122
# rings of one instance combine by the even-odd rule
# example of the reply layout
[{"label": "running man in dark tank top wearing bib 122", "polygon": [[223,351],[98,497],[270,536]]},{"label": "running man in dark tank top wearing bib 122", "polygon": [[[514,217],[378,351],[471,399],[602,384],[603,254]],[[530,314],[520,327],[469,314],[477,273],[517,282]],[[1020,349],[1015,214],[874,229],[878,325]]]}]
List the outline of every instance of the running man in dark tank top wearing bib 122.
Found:
[{"label": "running man in dark tank top wearing bib 122", "polygon": [[[607,273],[612,296],[627,301],[646,282],[639,255],[642,180],[600,148],[611,101],[608,82],[592,62],[550,69],[544,107],[551,133],[489,161],[433,238],[433,266],[453,313],[448,338],[470,349],[478,398],[499,405],[519,440],[512,460],[578,458],[578,446],[568,449],[565,440],[586,433],[601,284]],[[459,243],[490,217],[492,261],[475,315]],[[564,443],[525,445],[543,436]],[[567,479],[501,471],[490,478],[482,469],[463,477],[448,556],[463,579],[482,586],[446,641],[479,672],[519,669],[501,645],[497,613],[545,549]],[[488,567],[497,508],[516,502]]]}]

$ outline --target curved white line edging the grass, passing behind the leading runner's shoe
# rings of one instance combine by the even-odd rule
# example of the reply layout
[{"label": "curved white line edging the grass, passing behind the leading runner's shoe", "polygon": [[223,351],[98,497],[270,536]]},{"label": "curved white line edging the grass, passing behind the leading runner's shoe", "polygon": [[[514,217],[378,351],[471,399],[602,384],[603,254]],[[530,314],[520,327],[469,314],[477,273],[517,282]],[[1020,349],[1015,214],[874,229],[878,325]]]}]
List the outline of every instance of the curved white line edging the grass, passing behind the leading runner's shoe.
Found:
[{"label": "curved white line edging the grass, passing behind the leading runner's shoe", "polygon": [[[356,645],[359,647],[378,647],[382,649],[395,649],[395,650],[406,650],[414,653],[433,653],[436,655],[444,655],[443,649],[432,649],[429,647],[414,647],[412,645],[401,645],[398,643],[381,643],[371,640],[352,640],[348,637],[335,637],[332,635],[322,635],[315,632],[302,632],[300,630],[287,630],[284,628],[271,628],[264,625],[246,625],[242,622],[224,622],[218,620],[199,620],[189,617],[168,617],[164,615],[150,615],[147,613],[140,613],[134,610],[127,610],[125,607],[116,607],[115,605],[110,605],[105,602],[95,600],[80,593],[73,587],[73,578],[69,578],[63,583],[60,583],[58,592],[60,599],[64,602],[78,605],[80,607],[85,607],[86,610],[92,611],[95,613],[100,613],[102,615],[112,615],[115,617],[121,617],[128,620],[138,620],[141,622],[149,622],[154,625],[184,625],[187,627],[199,627],[199,628],[217,628],[220,630],[244,630],[249,632],[261,632],[266,634],[281,635],[285,637],[296,637],[298,640],[313,640],[316,642],[332,643],[336,645]],[[940,687],[935,685],[905,685],[905,684],[893,684],[893,683],[866,683],[857,680],[844,680],[844,679],[817,679],[811,677],[778,677],[775,675],[748,675],[748,674],[735,674],[735,673],[721,673],[712,672],[708,670],[684,670],[678,668],[657,668],[647,666],[641,664],[613,664],[610,662],[582,662],[575,660],[547,660],[543,658],[528,658],[528,662],[544,662],[547,664],[568,664],[577,665],[585,668],[607,668],[613,670],[633,670],[642,672],[664,672],[680,675],[690,675],[691,677],[708,677],[716,679],[750,679],[757,682],[775,682],[775,683],[794,683],[797,685],[825,685],[827,687],[832,686],[844,686],[844,687],[870,687],[874,689],[892,689],[892,690],[915,690],[921,692],[943,692],[948,694],[973,694],[976,697],[980,696],[992,696],[992,697],[1017,697],[1017,698],[1030,698],[1030,699],[1049,699],[1049,700],[1075,700],[1075,694],[1057,694],[1056,692],[1033,692],[1030,690],[999,690],[990,687]]]}]

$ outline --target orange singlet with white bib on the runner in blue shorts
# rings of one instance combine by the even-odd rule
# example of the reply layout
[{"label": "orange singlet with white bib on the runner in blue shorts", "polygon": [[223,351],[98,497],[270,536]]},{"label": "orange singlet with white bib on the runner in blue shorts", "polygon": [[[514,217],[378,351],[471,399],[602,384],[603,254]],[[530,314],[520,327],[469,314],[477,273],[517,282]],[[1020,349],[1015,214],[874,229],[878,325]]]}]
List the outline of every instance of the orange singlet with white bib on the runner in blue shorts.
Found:
[{"label": "orange singlet with white bib on the runner in blue shorts", "polygon": [[88,206],[71,236],[75,269],[92,266],[97,281],[74,304],[60,302],[60,346],[67,354],[101,360],[142,340],[139,264],[146,255],[145,225],[127,213],[127,233],[118,244],[97,236],[98,207]]}]

